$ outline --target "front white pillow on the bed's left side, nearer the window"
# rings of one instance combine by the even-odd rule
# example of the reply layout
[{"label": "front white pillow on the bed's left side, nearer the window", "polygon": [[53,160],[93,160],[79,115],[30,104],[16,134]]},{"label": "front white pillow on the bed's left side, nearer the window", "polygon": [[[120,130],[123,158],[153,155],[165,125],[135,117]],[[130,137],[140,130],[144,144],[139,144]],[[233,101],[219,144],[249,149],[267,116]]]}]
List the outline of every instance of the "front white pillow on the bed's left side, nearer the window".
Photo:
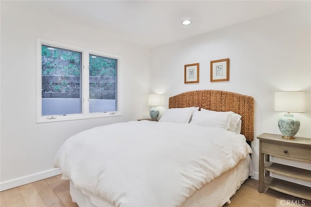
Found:
[{"label": "front white pillow on the bed's left side, nearer the window", "polygon": [[164,112],[159,122],[189,123],[193,111],[199,111],[199,107],[168,109]]}]

